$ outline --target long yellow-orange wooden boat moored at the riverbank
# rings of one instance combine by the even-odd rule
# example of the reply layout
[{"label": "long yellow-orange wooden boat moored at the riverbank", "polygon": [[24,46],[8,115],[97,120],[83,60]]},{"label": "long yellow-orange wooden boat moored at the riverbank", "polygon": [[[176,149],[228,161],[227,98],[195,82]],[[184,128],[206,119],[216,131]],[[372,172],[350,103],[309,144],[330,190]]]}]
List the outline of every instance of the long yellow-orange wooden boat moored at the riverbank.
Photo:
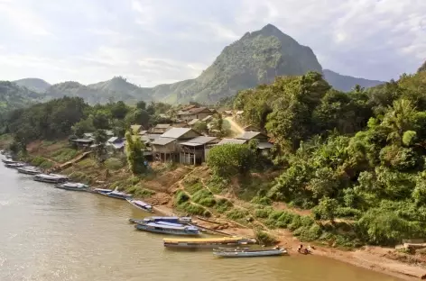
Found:
[{"label": "long yellow-orange wooden boat moored at the riverbank", "polygon": [[255,240],[243,237],[199,238],[199,239],[167,239],[162,240],[166,248],[181,249],[216,249],[219,247],[236,247],[254,243]]}]

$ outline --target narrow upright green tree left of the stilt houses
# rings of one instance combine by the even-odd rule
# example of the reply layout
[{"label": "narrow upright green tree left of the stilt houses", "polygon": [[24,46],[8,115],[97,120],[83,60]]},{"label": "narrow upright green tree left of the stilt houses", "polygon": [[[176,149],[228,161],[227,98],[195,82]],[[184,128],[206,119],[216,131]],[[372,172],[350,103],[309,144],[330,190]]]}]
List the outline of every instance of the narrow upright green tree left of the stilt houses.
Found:
[{"label": "narrow upright green tree left of the stilt houses", "polygon": [[134,175],[141,175],[146,170],[144,159],[144,143],[137,136],[134,138],[130,131],[125,133],[125,154],[127,164]]}]

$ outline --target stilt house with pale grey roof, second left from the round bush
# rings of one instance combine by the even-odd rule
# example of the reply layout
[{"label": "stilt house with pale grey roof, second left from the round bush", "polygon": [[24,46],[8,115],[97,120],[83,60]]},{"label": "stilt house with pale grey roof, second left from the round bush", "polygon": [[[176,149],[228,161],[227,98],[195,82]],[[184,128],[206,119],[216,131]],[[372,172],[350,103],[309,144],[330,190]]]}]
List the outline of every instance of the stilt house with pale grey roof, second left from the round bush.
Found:
[{"label": "stilt house with pale grey roof, second left from the round bush", "polygon": [[151,142],[153,159],[157,161],[178,161],[180,155],[180,143],[190,141],[201,136],[198,131],[190,128],[171,128],[164,132],[158,139]]}]

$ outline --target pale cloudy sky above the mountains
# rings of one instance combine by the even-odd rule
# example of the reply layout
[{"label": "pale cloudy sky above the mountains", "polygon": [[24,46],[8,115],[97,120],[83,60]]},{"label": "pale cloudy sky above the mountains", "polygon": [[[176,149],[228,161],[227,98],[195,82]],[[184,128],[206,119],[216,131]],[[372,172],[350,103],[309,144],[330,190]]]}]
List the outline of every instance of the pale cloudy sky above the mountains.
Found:
[{"label": "pale cloudy sky above the mountains", "polygon": [[272,23],[323,68],[389,80],[426,59],[426,0],[0,0],[0,80],[194,78]]}]

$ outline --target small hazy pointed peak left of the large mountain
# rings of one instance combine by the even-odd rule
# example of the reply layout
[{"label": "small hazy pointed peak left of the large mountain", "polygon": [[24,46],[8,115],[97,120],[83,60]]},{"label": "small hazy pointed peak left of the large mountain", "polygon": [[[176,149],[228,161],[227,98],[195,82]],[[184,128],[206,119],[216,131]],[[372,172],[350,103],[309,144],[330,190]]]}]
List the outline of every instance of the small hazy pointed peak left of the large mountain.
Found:
[{"label": "small hazy pointed peak left of the large mountain", "polygon": [[124,77],[114,77],[111,80],[88,85],[89,88],[102,91],[105,95],[132,96],[134,101],[148,101],[151,99],[152,88],[135,86],[127,82]]}]

